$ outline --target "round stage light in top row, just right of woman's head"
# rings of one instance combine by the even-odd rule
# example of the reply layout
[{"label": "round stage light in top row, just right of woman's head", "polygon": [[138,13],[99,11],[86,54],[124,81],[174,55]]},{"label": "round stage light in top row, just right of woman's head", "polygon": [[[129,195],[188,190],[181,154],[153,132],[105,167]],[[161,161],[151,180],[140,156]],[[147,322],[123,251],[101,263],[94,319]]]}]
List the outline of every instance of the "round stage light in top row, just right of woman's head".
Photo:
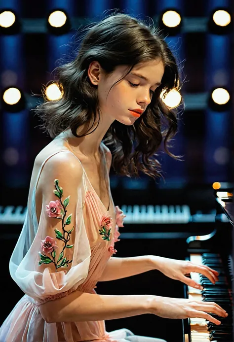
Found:
[{"label": "round stage light in top row, just right of woman's head", "polygon": [[161,12],[158,19],[158,26],[164,31],[164,35],[176,35],[182,26],[182,16],[178,9],[167,8]]}]

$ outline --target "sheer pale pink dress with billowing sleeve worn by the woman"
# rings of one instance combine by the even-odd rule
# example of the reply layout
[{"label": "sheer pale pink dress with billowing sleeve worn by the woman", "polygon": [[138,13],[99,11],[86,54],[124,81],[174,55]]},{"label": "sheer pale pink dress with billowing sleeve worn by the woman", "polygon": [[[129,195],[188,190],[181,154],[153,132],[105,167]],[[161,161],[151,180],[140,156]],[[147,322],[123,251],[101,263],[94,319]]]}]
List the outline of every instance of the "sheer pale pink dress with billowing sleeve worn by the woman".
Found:
[{"label": "sheer pale pink dress with billowing sleeve worn by the woman", "polygon": [[[103,143],[100,147],[105,161],[105,169],[108,173],[106,159],[108,149]],[[48,203],[42,203],[38,222],[35,205],[36,188],[43,166],[49,158],[57,153],[69,153],[73,157],[75,156],[70,150],[60,150],[46,158],[40,167],[32,196],[29,194],[25,222],[9,263],[11,277],[25,295],[15,305],[0,327],[0,342],[81,342],[94,340],[124,342],[127,336],[133,337],[134,334],[127,329],[107,333],[105,321],[46,323],[40,314],[39,306],[41,304],[67,296],[73,291],[78,290],[95,295],[98,279],[108,260],[113,257],[112,255],[116,251],[114,246],[119,236],[116,221],[120,211],[113,203],[109,176],[107,178],[110,204],[109,210],[107,210],[94,191],[79,161],[83,169],[82,182],[80,187],[76,189],[76,198],[72,199],[72,196],[70,198],[71,202],[76,201],[76,204],[73,205],[76,209],[72,213],[74,218],[72,225],[75,231],[74,244],[72,247],[67,244],[67,260],[62,258],[60,263],[63,262],[64,266],[58,268],[57,272],[55,272],[55,266],[51,266],[50,262],[46,264],[48,259],[45,258],[48,254],[43,253],[45,249],[41,250],[41,246],[43,241],[46,243],[44,227],[48,220],[49,206]],[[59,186],[63,186],[64,190],[66,188],[66,184],[59,184]],[[60,189],[57,190],[60,191]],[[58,197],[52,194],[51,201],[56,200]],[[54,210],[54,208],[52,209]],[[111,224],[110,217],[112,219]],[[55,241],[58,237],[57,233],[56,236],[54,233],[54,236],[50,238],[52,238],[51,241]],[[46,246],[48,247],[48,244]],[[59,248],[54,248],[54,251],[49,254],[50,259],[57,250]],[[71,259],[72,262],[66,265],[66,262]],[[39,266],[41,261],[43,261],[43,268],[41,265]],[[146,340],[142,341],[148,341],[147,339],[150,338],[144,339]],[[152,340],[159,341],[153,338]]]}]

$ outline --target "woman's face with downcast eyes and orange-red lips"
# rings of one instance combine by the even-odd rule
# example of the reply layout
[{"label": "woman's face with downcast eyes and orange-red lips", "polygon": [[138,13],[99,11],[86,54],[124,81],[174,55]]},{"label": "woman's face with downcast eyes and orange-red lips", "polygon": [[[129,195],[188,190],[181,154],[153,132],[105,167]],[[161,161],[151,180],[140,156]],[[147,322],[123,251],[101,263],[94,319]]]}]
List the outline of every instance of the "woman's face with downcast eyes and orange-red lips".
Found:
[{"label": "woman's face with downcast eyes and orange-red lips", "polygon": [[[127,76],[112,87],[126,72],[126,66],[118,66],[114,73],[106,78],[104,74],[99,74],[96,82],[98,84],[97,93],[100,112],[104,119],[110,119],[111,122],[117,120],[124,125],[132,125],[138,117],[134,116],[129,109],[146,110],[151,103],[153,92],[160,85],[164,66],[161,60],[138,64]],[[112,89],[109,92],[111,87]]]}]

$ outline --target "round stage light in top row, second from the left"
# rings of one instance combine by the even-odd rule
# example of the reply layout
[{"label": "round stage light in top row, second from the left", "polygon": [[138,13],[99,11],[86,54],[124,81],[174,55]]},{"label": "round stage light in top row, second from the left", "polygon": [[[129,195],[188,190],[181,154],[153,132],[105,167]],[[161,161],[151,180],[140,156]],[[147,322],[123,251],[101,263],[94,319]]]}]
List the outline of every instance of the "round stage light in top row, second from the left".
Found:
[{"label": "round stage light in top row, second from the left", "polygon": [[61,35],[68,33],[71,23],[68,14],[63,9],[54,9],[48,14],[47,29],[50,33]]}]

